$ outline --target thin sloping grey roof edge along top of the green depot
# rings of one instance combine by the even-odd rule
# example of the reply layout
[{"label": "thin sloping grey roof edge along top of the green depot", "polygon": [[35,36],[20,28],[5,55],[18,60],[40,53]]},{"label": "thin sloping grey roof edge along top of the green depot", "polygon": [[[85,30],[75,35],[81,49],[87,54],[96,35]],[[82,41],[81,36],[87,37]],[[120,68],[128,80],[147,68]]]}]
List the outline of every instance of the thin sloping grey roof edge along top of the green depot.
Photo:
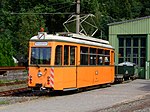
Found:
[{"label": "thin sloping grey roof edge along top of the green depot", "polygon": [[120,21],[120,22],[109,23],[109,24],[107,24],[107,25],[108,25],[108,26],[112,26],[112,25],[117,25],[117,24],[124,24],[124,23],[129,23],[129,22],[133,22],[133,21],[139,21],[139,20],[143,20],[143,19],[147,19],[147,18],[150,18],[150,16],[145,16],[145,17],[136,18],[136,19],[131,19],[131,20],[126,20],[126,21]]}]

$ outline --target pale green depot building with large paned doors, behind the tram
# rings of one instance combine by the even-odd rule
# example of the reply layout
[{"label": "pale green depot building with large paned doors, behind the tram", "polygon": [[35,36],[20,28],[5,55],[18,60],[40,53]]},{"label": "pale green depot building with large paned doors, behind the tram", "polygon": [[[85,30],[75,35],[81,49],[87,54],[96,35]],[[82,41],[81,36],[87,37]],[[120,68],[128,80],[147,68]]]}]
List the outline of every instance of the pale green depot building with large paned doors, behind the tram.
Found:
[{"label": "pale green depot building with large paned doors, behind the tram", "polygon": [[115,64],[133,62],[139,78],[150,79],[150,16],[108,25]]}]

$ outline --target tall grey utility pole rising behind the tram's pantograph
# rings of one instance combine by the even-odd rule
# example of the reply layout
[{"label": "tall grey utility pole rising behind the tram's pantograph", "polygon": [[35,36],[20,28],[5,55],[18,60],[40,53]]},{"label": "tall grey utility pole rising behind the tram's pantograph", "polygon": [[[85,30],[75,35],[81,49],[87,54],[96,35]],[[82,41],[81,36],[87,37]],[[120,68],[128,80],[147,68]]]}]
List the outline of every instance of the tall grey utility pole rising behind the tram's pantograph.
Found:
[{"label": "tall grey utility pole rising behind the tram's pantograph", "polygon": [[80,32],[80,0],[76,0],[76,33],[79,34]]}]

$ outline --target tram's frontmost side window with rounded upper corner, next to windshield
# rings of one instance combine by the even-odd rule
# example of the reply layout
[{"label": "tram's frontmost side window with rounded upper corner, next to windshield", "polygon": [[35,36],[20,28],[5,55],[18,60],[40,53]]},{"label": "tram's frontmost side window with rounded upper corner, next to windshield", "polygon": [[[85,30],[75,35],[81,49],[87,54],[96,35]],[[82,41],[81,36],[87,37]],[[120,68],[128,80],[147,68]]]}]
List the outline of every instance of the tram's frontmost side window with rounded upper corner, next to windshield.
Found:
[{"label": "tram's frontmost side window with rounded upper corner, next to windshield", "polygon": [[55,65],[62,65],[62,46],[55,49]]}]

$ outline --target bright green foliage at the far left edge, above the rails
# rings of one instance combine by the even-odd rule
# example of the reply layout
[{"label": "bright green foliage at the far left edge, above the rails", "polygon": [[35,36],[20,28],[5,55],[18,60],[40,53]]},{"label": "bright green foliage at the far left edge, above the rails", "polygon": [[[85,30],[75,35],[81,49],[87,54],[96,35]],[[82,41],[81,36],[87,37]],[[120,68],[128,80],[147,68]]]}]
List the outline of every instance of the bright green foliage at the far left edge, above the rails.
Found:
[{"label": "bright green foliage at the far left edge, above the rails", "polygon": [[1,10],[0,12],[3,14],[0,18],[0,66],[14,66],[11,18],[6,11]]}]

